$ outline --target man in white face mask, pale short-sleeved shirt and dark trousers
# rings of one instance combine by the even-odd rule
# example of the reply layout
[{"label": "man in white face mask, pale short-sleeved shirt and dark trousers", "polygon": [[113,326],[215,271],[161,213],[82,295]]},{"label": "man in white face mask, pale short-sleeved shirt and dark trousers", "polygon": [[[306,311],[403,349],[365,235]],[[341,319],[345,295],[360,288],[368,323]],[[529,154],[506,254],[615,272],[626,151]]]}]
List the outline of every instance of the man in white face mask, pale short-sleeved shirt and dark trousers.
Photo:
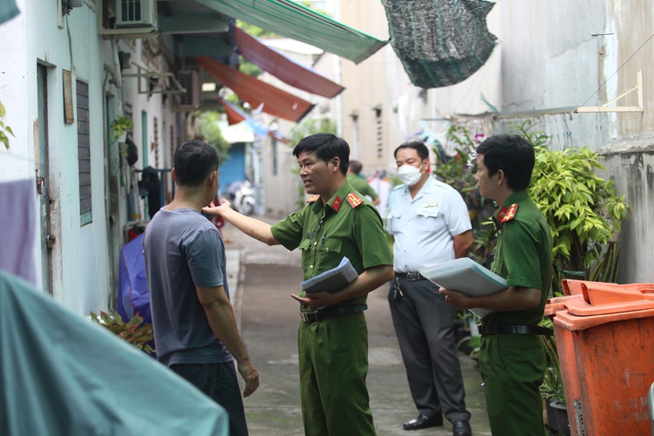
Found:
[{"label": "man in white face mask, pale short-sleeved shirt and dark trousers", "polygon": [[465,257],[472,226],[460,193],[429,175],[429,150],[406,142],[395,150],[402,184],[389,199],[387,230],[394,237],[388,300],[418,416],[404,430],[452,423],[454,436],[469,436],[470,413],[454,338],[455,312],[438,286],[417,270]]}]

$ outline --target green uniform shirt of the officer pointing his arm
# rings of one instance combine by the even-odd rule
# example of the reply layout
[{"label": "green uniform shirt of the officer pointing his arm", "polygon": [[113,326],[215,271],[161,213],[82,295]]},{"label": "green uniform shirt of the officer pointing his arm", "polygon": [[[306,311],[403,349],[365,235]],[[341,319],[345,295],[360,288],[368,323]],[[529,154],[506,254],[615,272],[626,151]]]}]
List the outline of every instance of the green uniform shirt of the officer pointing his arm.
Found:
[{"label": "green uniform shirt of the officer pointing his arm", "polygon": [[[350,197],[355,207],[347,200],[350,193],[355,195]],[[310,201],[272,226],[271,232],[288,250],[302,250],[305,280],[339,266],[344,256],[358,274],[379,265],[392,265],[379,212],[369,200],[358,197],[348,181],[326,205],[320,199]],[[304,295],[303,291],[300,296]],[[366,298],[362,295],[343,304],[363,304]]]}]

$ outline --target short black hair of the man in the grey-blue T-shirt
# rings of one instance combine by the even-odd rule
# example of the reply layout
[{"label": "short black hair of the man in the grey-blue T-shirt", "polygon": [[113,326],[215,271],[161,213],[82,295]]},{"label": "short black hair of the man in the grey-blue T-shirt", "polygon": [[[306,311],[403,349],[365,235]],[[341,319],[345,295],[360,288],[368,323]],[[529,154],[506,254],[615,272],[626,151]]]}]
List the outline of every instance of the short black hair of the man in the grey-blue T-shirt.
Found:
[{"label": "short black hair of the man in the grey-blue T-shirt", "polygon": [[173,165],[179,186],[199,186],[218,169],[218,152],[206,142],[186,141],[175,150]]}]

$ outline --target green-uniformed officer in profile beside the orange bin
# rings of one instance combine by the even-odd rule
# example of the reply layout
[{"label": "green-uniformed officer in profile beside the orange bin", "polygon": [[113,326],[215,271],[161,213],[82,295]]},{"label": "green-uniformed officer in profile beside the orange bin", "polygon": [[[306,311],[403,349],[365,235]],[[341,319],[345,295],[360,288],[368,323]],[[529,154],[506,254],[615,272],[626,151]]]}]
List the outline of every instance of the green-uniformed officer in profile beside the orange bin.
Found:
[{"label": "green-uniformed officer in profile beside the orange bin", "polygon": [[477,148],[479,192],[499,206],[491,269],[508,288],[494,295],[469,297],[441,288],[445,300],[461,309],[484,308],[479,326],[479,366],[484,380],[491,431],[497,436],[545,434],[538,386],[546,370],[538,327],[552,281],[552,236],[546,219],[529,198],[534,148],[520,136],[496,135]]}]

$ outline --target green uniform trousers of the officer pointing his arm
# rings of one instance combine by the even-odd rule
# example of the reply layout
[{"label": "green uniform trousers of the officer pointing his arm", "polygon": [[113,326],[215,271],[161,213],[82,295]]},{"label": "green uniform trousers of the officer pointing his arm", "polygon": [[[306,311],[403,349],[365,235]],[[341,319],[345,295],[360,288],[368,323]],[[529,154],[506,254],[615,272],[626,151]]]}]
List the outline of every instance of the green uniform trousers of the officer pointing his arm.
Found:
[{"label": "green uniform trousers of the officer pointing his arm", "polygon": [[363,312],[301,322],[297,350],[305,435],[374,435]]}]

